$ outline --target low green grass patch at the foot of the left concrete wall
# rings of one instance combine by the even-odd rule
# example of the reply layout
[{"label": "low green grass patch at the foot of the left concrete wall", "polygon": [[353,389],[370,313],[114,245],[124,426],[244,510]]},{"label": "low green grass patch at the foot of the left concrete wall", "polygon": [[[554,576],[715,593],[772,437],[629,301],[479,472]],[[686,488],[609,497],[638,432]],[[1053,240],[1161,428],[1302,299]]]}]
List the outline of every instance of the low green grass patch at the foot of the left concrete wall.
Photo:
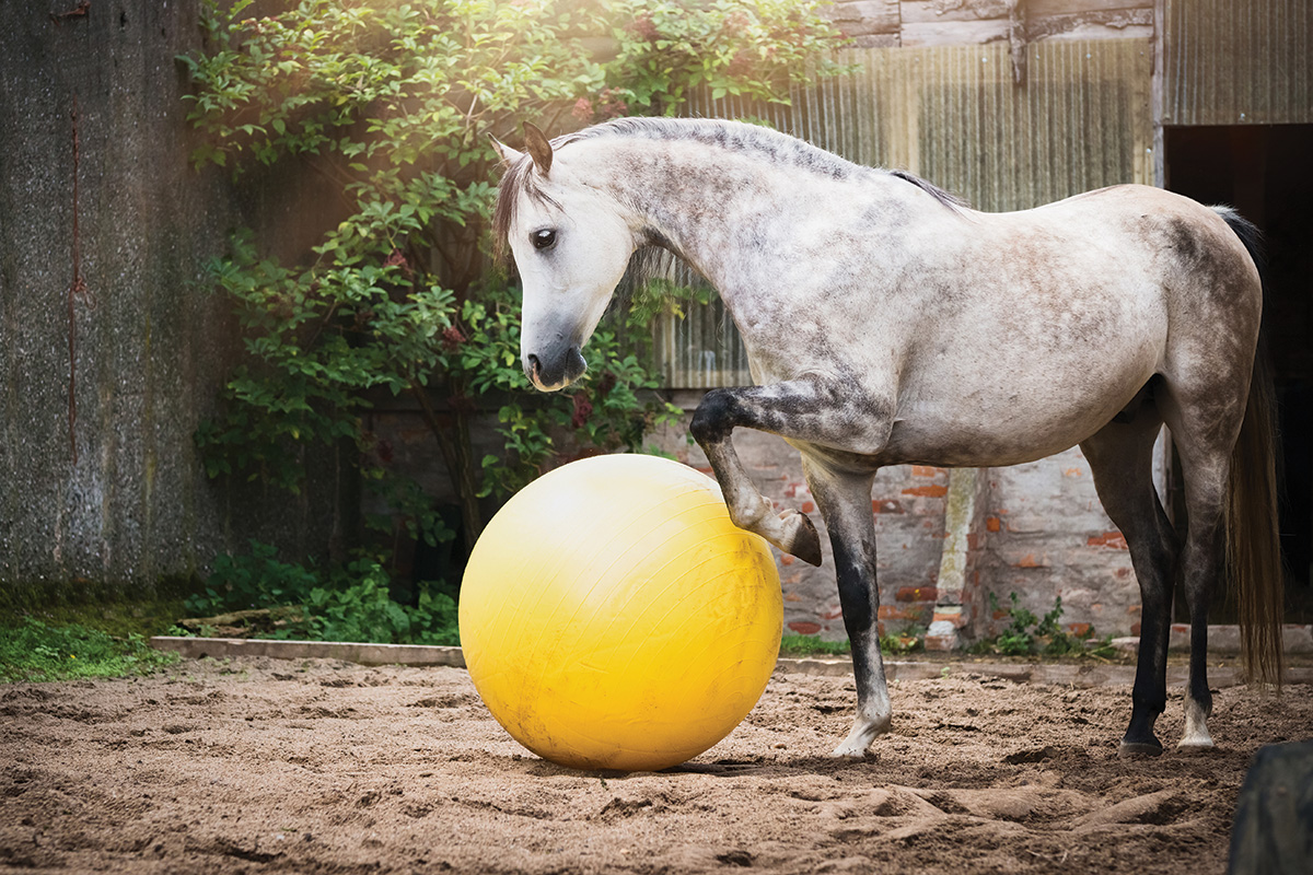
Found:
[{"label": "low green grass patch at the foot of the left concrete wall", "polygon": [[28,617],[0,632],[0,681],[68,681],[150,674],[177,662],[139,634],[116,638],[87,626],[47,626]]}]

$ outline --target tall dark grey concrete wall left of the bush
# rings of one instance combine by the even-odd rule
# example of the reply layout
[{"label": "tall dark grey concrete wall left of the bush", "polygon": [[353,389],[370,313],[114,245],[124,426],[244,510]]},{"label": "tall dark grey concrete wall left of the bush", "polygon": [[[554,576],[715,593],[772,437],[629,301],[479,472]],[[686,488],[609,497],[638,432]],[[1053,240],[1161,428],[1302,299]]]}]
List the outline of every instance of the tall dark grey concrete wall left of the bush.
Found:
[{"label": "tall dark grey concrete wall left of the bush", "polygon": [[314,496],[215,489],[192,441],[235,353],[202,265],[240,213],[188,163],[200,5],[0,0],[0,603],[150,592],[331,526]]}]

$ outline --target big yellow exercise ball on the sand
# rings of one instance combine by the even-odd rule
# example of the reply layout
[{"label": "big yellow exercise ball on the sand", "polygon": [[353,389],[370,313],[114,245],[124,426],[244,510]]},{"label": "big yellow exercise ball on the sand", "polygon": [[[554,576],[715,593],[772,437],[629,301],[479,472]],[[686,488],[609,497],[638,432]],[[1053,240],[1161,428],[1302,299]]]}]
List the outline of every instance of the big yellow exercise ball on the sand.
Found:
[{"label": "big yellow exercise ball on the sand", "polygon": [[716,480],[603,455],[530,483],[461,584],[461,647],[488,711],[574,769],[647,771],[747,716],[780,652],[780,575]]}]

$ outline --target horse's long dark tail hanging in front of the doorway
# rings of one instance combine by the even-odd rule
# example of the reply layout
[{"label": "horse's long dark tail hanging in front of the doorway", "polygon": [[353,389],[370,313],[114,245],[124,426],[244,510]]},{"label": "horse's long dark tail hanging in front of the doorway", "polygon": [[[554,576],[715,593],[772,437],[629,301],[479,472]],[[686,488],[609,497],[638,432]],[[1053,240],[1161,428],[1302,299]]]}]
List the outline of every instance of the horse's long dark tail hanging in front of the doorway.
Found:
[{"label": "horse's long dark tail hanging in front of the doorway", "polygon": [[[1259,273],[1262,234],[1234,210],[1217,209]],[[1236,588],[1241,651],[1250,682],[1280,689],[1285,598],[1276,516],[1276,430],[1272,375],[1262,344],[1254,356],[1249,404],[1232,450],[1226,506],[1226,564]]]}]

